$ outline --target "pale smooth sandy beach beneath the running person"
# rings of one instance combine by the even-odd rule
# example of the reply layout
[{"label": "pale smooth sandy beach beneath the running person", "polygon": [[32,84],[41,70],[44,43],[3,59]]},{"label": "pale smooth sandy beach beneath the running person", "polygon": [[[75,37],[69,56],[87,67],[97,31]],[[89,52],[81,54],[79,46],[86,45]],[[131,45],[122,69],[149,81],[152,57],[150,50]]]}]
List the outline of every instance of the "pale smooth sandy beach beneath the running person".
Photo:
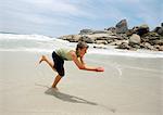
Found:
[{"label": "pale smooth sandy beach beneath the running person", "polygon": [[40,55],[0,52],[0,115],[163,114],[163,59],[88,54],[86,62],[105,72],[65,62],[57,91],[51,88],[57,73],[37,65]]}]

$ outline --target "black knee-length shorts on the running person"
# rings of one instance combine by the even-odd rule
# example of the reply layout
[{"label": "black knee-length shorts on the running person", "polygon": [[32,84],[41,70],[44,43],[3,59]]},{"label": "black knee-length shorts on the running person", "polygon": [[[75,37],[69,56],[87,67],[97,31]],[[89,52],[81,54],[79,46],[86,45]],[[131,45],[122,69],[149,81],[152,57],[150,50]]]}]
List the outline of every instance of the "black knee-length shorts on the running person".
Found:
[{"label": "black knee-length shorts on the running person", "polygon": [[53,62],[54,62],[54,65],[53,67],[57,69],[57,72],[59,73],[59,75],[61,77],[64,76],[64,60],[61,59],[54,51],[52,52],[52,59],[53,59]]}]

